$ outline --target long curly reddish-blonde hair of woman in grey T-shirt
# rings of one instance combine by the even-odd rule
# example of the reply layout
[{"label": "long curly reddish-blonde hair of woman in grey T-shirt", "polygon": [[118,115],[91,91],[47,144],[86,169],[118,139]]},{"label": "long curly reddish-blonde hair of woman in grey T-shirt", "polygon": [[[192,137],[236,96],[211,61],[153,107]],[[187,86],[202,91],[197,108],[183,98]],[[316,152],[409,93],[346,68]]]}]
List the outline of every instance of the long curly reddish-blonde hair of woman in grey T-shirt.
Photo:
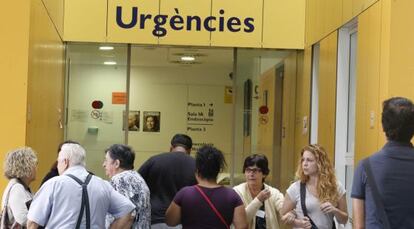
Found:
[{"label": "long curly reddish-blonde hair of woman in grey T-shirt", "polygon": [[318,192],[318,198],[321,203],[331,202],[332,204],[338,203],[338,185],[336,183],[336,176],[331,161],[328,158],[328,154],[325,149],[318,145],[312,144],[305,146],[301,151],[301,158],[296,170],[296,179],[302,183],[306,183],[309,180],[309,176],[303,173],[302,157],[305,151],[309,151],[315,156],[316,164],[318,166],[318,183],[316,190]]}]

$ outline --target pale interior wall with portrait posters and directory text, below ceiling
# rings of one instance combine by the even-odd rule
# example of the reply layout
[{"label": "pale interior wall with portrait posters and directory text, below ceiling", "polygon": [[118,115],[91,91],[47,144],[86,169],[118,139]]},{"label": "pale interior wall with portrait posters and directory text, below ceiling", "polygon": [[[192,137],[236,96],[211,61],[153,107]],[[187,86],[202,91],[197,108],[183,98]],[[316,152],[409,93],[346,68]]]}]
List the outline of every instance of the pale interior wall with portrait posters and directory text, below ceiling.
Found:
[{"label": "pale interior wall with portrait posters and directory text, below ceiling", "polygon": [[[224,86],[231,86],[229,69],[198,67],[133,67],[131,69],[130,110],[161,112],[161,131],[129,132],[129,145],[137,151],[137,161],[169,150],[175,133],[186,133],[197,143],[212,143],[221,149],[226,158],[231,153],[232,104],[224,103]],[[204,103],[206,107],[188,106]],[[191,131],[187,127],[187,114],[207,112],[213,103],[214,121],[204,131]],[[142,129],[142,128],[141,128]],[[196,128],[193,128],[194,130]]]}]

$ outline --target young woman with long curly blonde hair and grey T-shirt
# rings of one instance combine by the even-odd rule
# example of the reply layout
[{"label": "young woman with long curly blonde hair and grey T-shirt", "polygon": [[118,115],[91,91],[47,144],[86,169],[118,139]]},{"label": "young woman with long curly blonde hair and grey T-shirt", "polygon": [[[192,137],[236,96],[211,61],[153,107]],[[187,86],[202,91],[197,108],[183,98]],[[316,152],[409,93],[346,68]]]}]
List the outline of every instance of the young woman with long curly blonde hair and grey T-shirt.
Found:
[{"label": "young woman with long curly blonde hair and grey T-shirt", "polygon": [[[301,189],[305,206],[301,202]],[[303,207],[307,214],[304,214]],[[281,212],[283,218],[296,217],[289,221],[293,228],[335,228],[334,217],[338,223],[347,222],[345,189],[336,180],[334,168],[320,145],[308,145],[302,149],[296,182],[286,191]]]}]

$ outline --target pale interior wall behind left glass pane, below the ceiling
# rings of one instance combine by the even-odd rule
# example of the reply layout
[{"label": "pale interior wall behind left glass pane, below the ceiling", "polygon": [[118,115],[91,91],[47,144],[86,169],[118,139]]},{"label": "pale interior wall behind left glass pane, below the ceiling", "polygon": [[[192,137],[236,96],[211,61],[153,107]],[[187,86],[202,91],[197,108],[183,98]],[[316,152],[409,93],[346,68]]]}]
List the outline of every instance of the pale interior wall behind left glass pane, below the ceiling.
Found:
[{"label": "pale interior wall behind left glass pane, below the ceiling", "polygon": [[[122,114],[125,105],[112,104],[112,92],[126,88],[125,67],[103,65],[71,65],[69,76],[68,123],[66,139],[80,142],[87,150],[87,167],[103,176],[104,150],[114,143],[124,142]],[[104,103],[104,119],[94,119],[92,101]],[[88,133],[88,128],[97,133]],[[104,176],[103,176],[104,177]]]}]

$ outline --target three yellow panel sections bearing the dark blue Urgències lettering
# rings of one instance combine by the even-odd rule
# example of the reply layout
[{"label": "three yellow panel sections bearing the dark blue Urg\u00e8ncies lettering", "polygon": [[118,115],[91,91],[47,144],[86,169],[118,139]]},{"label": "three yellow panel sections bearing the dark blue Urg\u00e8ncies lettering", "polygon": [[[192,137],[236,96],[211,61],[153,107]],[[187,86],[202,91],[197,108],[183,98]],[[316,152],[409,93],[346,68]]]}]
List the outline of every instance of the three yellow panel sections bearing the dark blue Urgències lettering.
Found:
[{"label": "three yellow panel sections bearing the dark blue Urg\u00e8ncies lettering", "polygon": [[250,0],[249,8],[238,7],[247,0],[229,1],[235,4],[216,0],[110,0],[108,41],[260,46],[263,1]]}]

